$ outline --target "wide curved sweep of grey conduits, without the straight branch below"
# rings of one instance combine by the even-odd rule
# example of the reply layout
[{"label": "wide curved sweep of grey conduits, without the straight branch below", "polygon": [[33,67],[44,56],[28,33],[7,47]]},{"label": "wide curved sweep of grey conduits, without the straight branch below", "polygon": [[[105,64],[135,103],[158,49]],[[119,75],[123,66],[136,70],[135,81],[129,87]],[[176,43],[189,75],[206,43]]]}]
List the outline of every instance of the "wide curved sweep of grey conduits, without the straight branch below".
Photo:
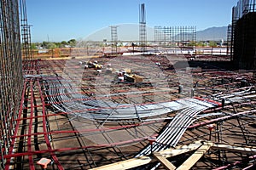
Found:
[{"label": "wide curved sweep of grey conduits, without the straight branch below", "polygon": [[[48,100],[57,110],[72,113],[91,121],[120,122],[160,116],[187,107],[209,108],[214,104],[200,99],[180,99],[157,104],[131,105],[114,103],[108,99],[91,99],[79,94],[67,80],[47,79],[45,89],[48,89]],[[58,81],[59,83],[56,83]],[[65,102],[61,102],[65,101]]]}]

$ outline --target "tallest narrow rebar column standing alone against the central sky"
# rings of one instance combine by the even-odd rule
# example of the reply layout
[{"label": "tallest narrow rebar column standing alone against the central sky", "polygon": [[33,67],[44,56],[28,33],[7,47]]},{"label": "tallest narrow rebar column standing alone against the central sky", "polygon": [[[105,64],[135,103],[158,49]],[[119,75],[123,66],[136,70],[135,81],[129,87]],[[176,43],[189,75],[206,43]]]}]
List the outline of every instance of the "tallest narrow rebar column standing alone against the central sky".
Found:
[{"label": "tallest narrow rebar column standing alone against the central sky", "polygon": [[147,31],[146,31],[146,11],[145,4],[140,4],[139,8],[139,42],[142,51],[146,51],[147,47]]}]

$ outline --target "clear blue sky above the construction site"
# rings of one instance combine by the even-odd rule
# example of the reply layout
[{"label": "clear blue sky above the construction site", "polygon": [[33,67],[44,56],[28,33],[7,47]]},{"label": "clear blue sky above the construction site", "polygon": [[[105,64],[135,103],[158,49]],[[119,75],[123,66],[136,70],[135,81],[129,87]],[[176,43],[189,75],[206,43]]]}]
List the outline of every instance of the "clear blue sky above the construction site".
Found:
[{"label": "clear blue sky above the construction site", "polygon": [[26,0],[32,42],[81,39],[104,27],[138,23],[145,3],[147,26],[228,26],[237,0]]}]

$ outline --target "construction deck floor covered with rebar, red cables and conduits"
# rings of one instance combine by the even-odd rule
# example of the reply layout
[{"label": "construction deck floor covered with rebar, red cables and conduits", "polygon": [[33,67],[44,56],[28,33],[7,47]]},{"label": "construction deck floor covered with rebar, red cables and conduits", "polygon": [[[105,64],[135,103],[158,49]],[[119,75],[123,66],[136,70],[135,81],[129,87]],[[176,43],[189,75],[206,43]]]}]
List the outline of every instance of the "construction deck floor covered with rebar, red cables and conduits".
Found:
[{"label": "construction deck floor covered with rebar, red cables and conduits", "polygon": [[[37,169],[40,167],[37,162],[48,158],[47,169],[101,169],[108,164],[112,168],[114,162],[149,156],[152,163],[149,161],[146,167],[158,167],[150,151],[143,153],[150,147],[148,139],[156,137],[151,146],[155,153],[196,141],[201,141],[200,144],[211,141],[213,146],[191,164],[195,169],[253,166],[256,141],[253,71],[226,71],[214,63],[216,57],[205,58],[208,63],[201,59],[190,61],[189,65],[195,67],[189,69],[187,58],[174,54],[34,59],[26,63],[32,67],[23,70],[23,105],[12,137],[14,152],[5,156],[6,165],[10,169]],[[96,65],[84,66],[85,63],[102,65],[102,71]],[[119,71],[125,69],[143,77],[143,82],[118,79]],[[192,82],[185,80],[188,75],[193,77]],[[193,104],[190,99],[194,99]],[[155,115],[137,111],[166,102],[183,106],[174,105],[167,108],[172,111]],[[135,110],[130,109],[131,105]],[[201,105],[207,106],[201,108]],[[128,111],[124,113],[126,116],[119,116],[124,107]],[[177,116],[181,117],[174,122]],[[163,135],[165,132],[169,133]],[[158,141],[159,137],[162,139]],[[226,145],[219,149],[214,144]],[[183,166],[183,161],[198,152],[195,150],[168,160],[174,167]],[[140,165],[132,161],[131,164],[134,168]]]}]

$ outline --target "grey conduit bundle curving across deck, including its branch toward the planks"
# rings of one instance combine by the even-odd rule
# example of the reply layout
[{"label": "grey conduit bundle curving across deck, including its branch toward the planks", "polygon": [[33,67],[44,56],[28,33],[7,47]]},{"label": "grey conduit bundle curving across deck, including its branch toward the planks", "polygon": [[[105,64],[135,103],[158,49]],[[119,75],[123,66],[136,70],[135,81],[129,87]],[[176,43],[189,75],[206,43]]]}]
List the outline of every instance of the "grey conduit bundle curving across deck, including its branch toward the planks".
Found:
[{"label": "grey conduit bundle curving across deck, including its branch toward the planks", "polygon": [[[62,112],[71,113],[73,116],[81,116],[91,121],[100,122],[122,122],[134,119],[137,121],[143,118],[161,116],[172,111],[177,111],[162,133],[156,138],[152,145],[152,151],[165,150],[175,147],[186,131],[187,127],[196,120],[196,116],[209,108],[221,106],[220,103],[211,99],[180,99],[170,102],[145,105],[117,104],[110,100],[90,99],[90,97],[79,94],[71,83],[59,77],[45,79],[45,86],[48,89],[48,99],[56,109]],[[57,82],[56,82],[57,81]],[[215,100],[226,99],[227,102],[241,101],[243,95],[250,94],[250,88],[230,95],[218,94]],[[67,102],[61,102],[67,101]],[[135,121],[134,121],[135,122]],[[151,146],[148,145],[136,157],[145,156],[151,153]],[[156,165],[155,167],[158,167]]]}]

